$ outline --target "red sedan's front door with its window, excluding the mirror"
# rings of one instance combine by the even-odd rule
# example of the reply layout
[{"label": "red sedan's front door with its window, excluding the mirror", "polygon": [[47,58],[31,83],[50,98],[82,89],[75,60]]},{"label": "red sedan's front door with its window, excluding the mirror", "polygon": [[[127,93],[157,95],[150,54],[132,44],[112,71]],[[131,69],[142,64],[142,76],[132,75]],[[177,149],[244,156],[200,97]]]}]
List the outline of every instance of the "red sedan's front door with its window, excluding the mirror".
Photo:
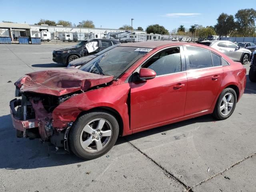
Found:
[{"label": "red sedan's front door with its window, excluding the mirror", "polygon": [[187,77],[180,49],[170,48],[152,56],[142,67],[154,70],[156,77],[131,83],[131,130],[184,116]]}]

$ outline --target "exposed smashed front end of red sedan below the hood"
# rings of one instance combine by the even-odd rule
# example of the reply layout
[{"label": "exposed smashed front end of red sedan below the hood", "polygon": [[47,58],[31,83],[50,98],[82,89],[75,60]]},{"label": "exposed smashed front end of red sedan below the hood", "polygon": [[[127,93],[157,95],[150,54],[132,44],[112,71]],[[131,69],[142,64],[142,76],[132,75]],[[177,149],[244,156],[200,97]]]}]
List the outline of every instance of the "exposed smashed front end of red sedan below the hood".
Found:
[{"label": "exposed smashed front end of red sedan below the hood", "polygon": [[[68,96],[66,96],[68,98]],[[72,122],[54,122],[53,110],[63,102],[63,97],[50,95],[22,94],[21,99],[10,101],[12,123],[17,137],[41,138],[57,147],[67,146],[67,133]],[[56,127],[53,123],[57,124]]]}]

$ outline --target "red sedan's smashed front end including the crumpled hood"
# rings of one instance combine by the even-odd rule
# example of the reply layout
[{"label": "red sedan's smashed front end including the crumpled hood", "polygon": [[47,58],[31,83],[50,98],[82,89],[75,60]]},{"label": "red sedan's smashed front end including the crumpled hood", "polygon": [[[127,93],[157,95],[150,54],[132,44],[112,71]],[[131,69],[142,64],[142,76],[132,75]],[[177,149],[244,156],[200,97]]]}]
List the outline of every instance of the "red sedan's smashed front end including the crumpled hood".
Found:
[{"label": "red sedan's smashed front end including the crumpled hood", "polygon": [[106,86],[112,76],[78,70],[55,70],[26,74],[14,83],[15,98],[10,101],[12,123],[17,137],[41,138],[68,150],[67,136],[72,120],[53,118],[54,109],[86,90]]}]

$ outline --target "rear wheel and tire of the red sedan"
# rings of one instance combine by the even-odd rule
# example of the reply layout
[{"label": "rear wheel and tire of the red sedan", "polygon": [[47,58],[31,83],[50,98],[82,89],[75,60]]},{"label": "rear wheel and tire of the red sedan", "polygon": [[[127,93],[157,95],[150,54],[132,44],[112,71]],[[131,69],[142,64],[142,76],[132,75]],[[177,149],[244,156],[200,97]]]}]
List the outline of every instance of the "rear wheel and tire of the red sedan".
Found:
[{"label": "rear wheel and tire of the red sedan", "polygon": [[218,120],[229,118],[236,108],[236,92],[232,88],[224,89],[214,108],[213,116]]}]

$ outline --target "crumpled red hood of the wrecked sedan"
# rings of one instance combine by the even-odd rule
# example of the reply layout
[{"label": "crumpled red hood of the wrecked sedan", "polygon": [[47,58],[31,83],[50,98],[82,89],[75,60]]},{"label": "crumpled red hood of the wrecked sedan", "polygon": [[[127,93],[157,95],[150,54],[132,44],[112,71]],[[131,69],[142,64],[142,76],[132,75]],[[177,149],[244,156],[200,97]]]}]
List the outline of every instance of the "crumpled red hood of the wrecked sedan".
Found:
[{"label": "crumpled red hood of the wrecked sedan", "polygon": [[98,75],[78,69],[45,70],[26,74],[14,83],[21,92],[34,92],[61,96],[88,90],[91,87],[108,83],[114,76]]}]

